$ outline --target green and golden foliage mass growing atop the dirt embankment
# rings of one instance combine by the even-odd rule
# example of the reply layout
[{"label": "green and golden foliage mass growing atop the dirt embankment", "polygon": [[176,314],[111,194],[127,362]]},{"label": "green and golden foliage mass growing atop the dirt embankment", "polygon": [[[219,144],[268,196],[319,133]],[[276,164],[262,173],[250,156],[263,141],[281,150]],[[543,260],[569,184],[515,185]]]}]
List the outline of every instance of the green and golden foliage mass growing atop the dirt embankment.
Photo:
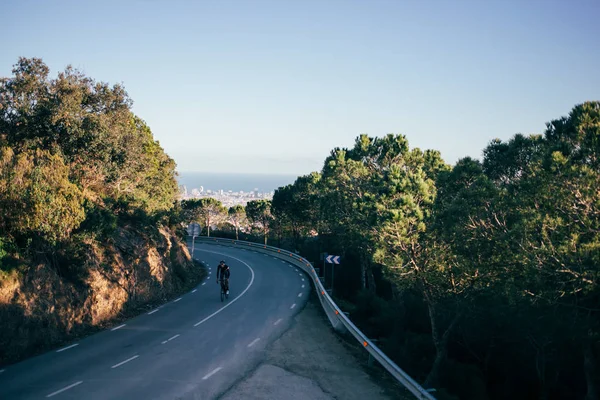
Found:
[{"label": "green and golden foliage mass growing atop the dirt embankment", "polygon": [[49,73],[41,59],[20,58],[0,79],[0,229],[17,252],[56,264],[119,223],[165,220],[177,183],[122,86],[70,66]]}]

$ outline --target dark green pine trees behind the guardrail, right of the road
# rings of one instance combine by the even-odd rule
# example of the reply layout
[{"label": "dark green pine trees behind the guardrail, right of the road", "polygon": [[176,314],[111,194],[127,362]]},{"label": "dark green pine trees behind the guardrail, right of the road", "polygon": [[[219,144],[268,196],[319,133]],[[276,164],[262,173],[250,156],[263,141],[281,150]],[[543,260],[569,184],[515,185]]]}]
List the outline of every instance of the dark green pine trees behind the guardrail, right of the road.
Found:
[{"label": "dark green pine trees behind the guardrail, right of the road", "polygon": [[600,102],[454,166],[361,135],[262,203],[217,234],[341,255],[339,304],[438,397],[600,396]]}]

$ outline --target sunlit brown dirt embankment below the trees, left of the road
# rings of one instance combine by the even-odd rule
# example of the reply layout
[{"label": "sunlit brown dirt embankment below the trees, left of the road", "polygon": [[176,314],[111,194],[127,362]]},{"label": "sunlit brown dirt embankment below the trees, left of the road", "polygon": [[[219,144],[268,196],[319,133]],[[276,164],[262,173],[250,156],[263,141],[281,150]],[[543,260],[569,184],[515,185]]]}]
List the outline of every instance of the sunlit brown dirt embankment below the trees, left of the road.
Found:
[{"label": "sunlit brown dirt embankment below the trees, left of the road", "polygon": [[40,264],[0,276],[0,366],[136,315],[205,274],[166,228],[120,228],[69,271]]}]

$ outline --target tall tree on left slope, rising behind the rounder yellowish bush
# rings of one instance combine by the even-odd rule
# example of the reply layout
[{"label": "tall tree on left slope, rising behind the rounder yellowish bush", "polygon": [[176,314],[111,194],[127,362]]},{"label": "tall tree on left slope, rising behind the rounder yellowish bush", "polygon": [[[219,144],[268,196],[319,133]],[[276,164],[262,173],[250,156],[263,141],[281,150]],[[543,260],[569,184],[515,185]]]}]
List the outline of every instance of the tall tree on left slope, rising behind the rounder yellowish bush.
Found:
[{"label": "tall tree on left slope, rising behind the rounder yellowish bush", "polygon": [[84,196],[154,214],[176,198],[175,163],[131,112],[120,85],[67,67],[56,79],[40,59],[20,58],[0,80],[0,132],[16,154],[46,150],[69,168]]}]

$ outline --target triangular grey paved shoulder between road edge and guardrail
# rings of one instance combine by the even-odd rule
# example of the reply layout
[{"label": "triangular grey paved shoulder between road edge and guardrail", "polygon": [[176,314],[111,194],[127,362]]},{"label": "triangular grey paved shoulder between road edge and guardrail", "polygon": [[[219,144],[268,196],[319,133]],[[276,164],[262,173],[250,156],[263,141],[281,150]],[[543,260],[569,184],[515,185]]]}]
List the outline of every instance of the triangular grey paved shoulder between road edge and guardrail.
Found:
[{"label": "triangular grey paved shoulder between road edge and guardrail", "polygon": [[362,364],[333,331],[312,293],[291,327],[267,347],[262,362],[220,398],[399,398],[375,382]]}]

